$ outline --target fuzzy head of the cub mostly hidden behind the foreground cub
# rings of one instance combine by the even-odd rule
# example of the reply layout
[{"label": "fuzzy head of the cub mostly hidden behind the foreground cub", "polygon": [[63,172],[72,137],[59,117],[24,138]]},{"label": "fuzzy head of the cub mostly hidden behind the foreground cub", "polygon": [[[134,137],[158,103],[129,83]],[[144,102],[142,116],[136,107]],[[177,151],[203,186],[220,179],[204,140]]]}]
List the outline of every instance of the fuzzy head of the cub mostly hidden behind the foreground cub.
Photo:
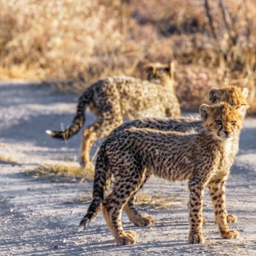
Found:
[{"label": "fuzzy head of the cub mostly hidden behind the foreground cub", "polygon": [[209,91],[209,100],[211,103],[227,102],[231,106],[244,105],[250,108],[248,102],[248,89],[237,86],[228,86],[226,88],[211,88]]}]

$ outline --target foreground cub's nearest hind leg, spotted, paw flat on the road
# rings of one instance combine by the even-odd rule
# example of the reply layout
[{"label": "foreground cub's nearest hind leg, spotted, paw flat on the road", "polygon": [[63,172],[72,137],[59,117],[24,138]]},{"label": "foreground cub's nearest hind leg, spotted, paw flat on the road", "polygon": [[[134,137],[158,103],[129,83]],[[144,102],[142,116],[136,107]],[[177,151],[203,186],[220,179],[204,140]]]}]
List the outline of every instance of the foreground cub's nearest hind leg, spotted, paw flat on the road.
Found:
[{"label": "foreground cub's nearest hind leg, spotted, paw flat on the road", "polygon": [[111,193],[102,202],[104,218],[115,237],[117,245],[134,244],[136,239],[136,232],[132,230],[124,231],[121,222],[122,209],[129,198],[140,189],[141,183],[145,179],[146,169],[139,170],[137,166],[140,166],[140,164],[136,165],[134,161],[134,159],[131,159],[130,164],[127,164],[127,166],[131,166],[129,170],[127,170],[127,166],[120,166],[120,169],[124,171],[115,180]]}]

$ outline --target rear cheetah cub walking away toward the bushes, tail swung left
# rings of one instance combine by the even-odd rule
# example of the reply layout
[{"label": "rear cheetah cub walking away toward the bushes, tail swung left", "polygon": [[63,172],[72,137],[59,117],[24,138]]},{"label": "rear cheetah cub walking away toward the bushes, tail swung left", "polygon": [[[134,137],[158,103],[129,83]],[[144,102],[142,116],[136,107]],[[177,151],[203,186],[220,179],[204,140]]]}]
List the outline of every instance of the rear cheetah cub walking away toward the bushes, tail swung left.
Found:
[{"label": "rear cheetah cub walking away toward the bushes, tail swung left", "polygon": [[148,80],[114,76],[97,81],[79,97],[77,113],[70,127],[64,131],[45,132],[52,138],[68,140],[83,127],[84,111],[89,106],[98,119],[83,131],[80,157],[81,164],[91,165],[90,149],[93,143],[122,124],[123,117],[129,120],[147,116],[179,117],[173,63],[153,63],[147,71]]}]

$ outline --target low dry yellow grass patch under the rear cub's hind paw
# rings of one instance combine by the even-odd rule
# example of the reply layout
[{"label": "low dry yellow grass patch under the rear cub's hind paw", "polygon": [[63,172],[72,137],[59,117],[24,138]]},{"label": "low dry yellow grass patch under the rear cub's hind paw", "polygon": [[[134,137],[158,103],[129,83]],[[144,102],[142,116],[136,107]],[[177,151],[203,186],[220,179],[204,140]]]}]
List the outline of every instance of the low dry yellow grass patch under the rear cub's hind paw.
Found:
[{"label": "low dry yellow grass patch under the rear cub's hind paw", "polygon": [[92,168],[82,168],[67,164],[47,164],[29,171],[28,174],[33,175],[36,179],[47,177],[58,181],[64,178],[77,182],[93,180],[94,170]]}]

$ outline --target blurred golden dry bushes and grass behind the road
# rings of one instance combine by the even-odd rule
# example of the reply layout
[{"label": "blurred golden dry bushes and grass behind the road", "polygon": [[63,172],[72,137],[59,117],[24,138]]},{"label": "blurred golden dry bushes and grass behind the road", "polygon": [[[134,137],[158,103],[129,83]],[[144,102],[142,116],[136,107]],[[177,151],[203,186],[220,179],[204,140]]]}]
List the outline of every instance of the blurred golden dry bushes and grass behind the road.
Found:
[{"label": "blurred golden dry bushes and grass behind the road", "polygon": [[212,86],[250,90],[256,113],[256,0],[0,0],[0,79],[82,92],[100,78],[144,77],[176,61],[182,107]]}]

